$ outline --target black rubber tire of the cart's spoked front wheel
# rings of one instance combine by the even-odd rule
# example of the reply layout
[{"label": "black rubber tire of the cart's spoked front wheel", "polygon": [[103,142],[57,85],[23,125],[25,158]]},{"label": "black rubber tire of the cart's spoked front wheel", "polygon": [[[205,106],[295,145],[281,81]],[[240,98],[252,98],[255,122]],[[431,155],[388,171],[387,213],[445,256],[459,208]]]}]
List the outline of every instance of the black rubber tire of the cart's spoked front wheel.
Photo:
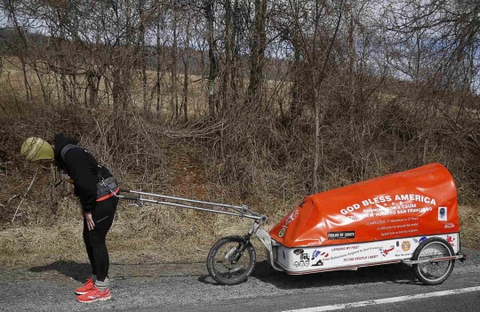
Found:
[{"label": "black rubber tire of the cart's spoked front wheel", "polygon": [[[255,249],[253,248],[252,243],[249,242],[247,244],[247,246],[245,247],[244,252],[249,253],[250,262],[249,262],[248,268],[245,270],[244,274],[242,274],[241,276],[238,276],[234,279],[225,278],[225,277],[221,277],[221,276],[217,275],[217,273],[215,272],[214,266],[213,266],[213,261],[215,259],[215,255],[217,254],[217,252],[219,251],[220,247],[223,244],[228,244],[230,242],[235,242],[235,243],[244,242],[244,237],[242,237],[242,236],[226,236],[226,237],[220,238],[220,240],[217,243],[213,244],[212,249],[210,250],[210,252],[208,252],[208,256],[207,256],[208,273],[210,274],[210,276],[212,276],[212,278],[217,283],[223,284],[223,285],[236,285],[236,284],[244,283],[244,281],[247,280],[248,276],[250,276],[252,274],[253,268],[255,268],[255,263],[256,263],[256,260],[257,260],[256,259],[257,255],[256,255],[256,252],[255,252]],[[242,255],[242,257],[244,257],[244,254]]]}]

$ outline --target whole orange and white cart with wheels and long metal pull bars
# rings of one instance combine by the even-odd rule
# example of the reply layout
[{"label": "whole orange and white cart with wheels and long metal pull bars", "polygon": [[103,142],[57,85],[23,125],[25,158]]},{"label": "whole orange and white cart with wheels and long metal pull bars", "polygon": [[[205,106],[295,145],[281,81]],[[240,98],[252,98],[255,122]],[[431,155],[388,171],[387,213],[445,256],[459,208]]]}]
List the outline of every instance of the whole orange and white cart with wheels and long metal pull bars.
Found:
[{"label": "whole orange and white cart with wheels and long metal pull bars", "polygon": [[[412,266],[423,284],[441,284],[452,274],[455,260],[465,260],[460,254],[455,182],[442,164],[307,196],[269,232],[261,227],[267,216],[246,205],[124,188],[121,192],[138,195],[119,197],[139,205],[167,204],[252,219],[245,236],[223,237],[208,254],[208,271],[220,284],[239,284],[252,274],[256,263],[253,235],[265,245],[273,268],[294,275],[403,262]],[[161,197],[162,201],[142,196]]]}]

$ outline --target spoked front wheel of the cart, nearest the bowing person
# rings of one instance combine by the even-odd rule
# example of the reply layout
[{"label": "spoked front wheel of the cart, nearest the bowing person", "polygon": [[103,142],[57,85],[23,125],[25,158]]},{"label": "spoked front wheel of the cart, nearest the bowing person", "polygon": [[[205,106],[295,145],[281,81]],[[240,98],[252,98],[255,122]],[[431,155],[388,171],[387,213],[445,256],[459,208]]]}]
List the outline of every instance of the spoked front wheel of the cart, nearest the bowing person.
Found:
[{"label": "spoked front wheel of the cart, nearest the bowing person", "polygon": [[244,237],[223,237],[208,253],[208,273],[219,284],[240,284],[252,274],[255,260],[255,250]]}]

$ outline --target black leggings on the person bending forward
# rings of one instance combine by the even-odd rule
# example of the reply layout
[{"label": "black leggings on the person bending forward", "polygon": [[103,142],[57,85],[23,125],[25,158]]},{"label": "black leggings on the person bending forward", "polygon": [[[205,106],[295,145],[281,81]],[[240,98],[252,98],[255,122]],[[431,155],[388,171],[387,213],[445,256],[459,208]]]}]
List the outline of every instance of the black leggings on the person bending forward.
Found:
[{"label": "black leggings on the person bending forward", "polygon": [[104,281],[108,276],[109,260],[105,238],[115,217],[116,204],[118,198],[115,196],[95,204],[92,210],[95,227],[91,231],[88,230],[84,219],[84,243],[92,265],[92,275],[96,275],[99,281]]}]

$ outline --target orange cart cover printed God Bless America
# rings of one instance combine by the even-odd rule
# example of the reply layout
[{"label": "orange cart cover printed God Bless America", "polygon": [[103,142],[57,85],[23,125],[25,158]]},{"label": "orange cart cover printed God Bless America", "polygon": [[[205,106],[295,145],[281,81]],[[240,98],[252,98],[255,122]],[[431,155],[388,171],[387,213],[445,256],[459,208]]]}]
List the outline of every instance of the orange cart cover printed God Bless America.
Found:
[{"label": "orange cart cover printed God Bless America", "polygon": [[442,164],[427,164],[307,196],[270,236],[286,247],[459,232],[457,191]]}]

